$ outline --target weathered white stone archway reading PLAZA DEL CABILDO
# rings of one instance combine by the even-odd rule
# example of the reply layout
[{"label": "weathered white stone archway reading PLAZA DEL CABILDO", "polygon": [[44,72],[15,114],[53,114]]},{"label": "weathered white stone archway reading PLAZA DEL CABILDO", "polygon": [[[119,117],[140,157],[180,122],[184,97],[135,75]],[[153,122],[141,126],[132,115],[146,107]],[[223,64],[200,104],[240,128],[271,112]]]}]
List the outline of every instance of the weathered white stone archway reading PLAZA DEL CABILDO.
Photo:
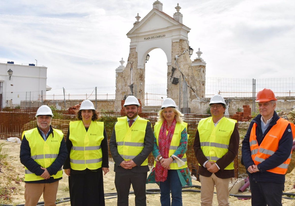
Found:
[{"label": "weathered white stone archway reading PLAZA DEL CABILDO", "polygon": [[[192,62],[189,57],[190,28],[182,24],[182,14],[179,12],[181,7],[177,4],[173,17],[165,14],[162,8],[163,4],[155,1],[153,9],[141,21],[137,14],[137,21],[127,33],[130,38],[129,57],[126,67],[116,69],[115,111],[122,109],[121,100],[129,94],[144,103],[145,58],[155,48],[163,50],[167,57],[167,96],[174,99],[179,108],[182,107],[181,99],[185,98],[186,104],[190,106],[194,99],[205,92],[206,63],[203,61],[193,65],[195,61]],[[186,82],[187,86],[172,84],[172,78],[182,78],[180,81]],[[186,94],[180,94],[180,91],[187,88]]]}]

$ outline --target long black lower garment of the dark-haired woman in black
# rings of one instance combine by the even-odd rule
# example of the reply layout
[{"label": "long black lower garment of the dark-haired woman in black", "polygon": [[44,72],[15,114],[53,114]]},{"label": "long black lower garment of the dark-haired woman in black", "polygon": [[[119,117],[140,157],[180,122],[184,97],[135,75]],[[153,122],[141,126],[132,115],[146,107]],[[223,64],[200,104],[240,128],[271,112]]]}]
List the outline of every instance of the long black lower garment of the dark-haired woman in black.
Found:
[{"label": "long black lower garment of the dark-haired woman in black", "polygon": [[[84,171],[84,170],[83,170]],[[71,206],[104,206],[104,181],[102,169],[69,176]]]}]

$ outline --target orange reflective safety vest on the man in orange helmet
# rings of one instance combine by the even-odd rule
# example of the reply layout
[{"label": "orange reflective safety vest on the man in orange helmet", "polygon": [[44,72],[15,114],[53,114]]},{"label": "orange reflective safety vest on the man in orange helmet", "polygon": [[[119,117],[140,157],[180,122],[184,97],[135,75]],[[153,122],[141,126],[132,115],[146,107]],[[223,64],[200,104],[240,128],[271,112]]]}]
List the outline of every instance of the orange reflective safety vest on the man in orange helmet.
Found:
[{"label": "orange reflective safety vest on the man in orange helmet", "polygon": [[[271,129],[268,131],[268,133],[266,134],[266,136],[264,137],[264,139],[262,140],[259,146],[256,140],[257,124],[256,123],[253,124],[249,141],[250,141],[251,157],[255,165],[260,164],[261,162],[266,160],[268,157],[273,155],[278,150],[279,141],[282,138],[282,135],[285,132],[288,124],[290,124],[289,121],[279,118],[276,124],[273,125],[273,127],[271,127]],[[294,139],[295,127],[292,127],[291,125],[291,128],[292,128],[292,135]],[[291,161],[291,155],[292,155],[292,151],[285,162],[267,171],[284,175],[287,172],[289,163]]]}]

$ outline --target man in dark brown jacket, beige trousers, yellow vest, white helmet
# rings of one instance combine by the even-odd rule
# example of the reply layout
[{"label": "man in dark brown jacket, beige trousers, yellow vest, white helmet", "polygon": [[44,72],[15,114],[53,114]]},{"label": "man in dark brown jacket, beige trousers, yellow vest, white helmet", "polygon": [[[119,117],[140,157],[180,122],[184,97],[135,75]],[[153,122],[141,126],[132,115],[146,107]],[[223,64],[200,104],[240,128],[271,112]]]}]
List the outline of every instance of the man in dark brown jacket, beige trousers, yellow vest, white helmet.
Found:
[{"label": "man in dark brown jacket, beige trousers, yellow vest, white helmet", "polygon": [[201,205],[212,205],[214,186],[220,206],[229,204],[230,178],[235,177],[234,159],[239,148],[237,121],[224,117],[226,104],[219,94],[209,102],[212,117],[201,119],[194,140],[199,162]]}]

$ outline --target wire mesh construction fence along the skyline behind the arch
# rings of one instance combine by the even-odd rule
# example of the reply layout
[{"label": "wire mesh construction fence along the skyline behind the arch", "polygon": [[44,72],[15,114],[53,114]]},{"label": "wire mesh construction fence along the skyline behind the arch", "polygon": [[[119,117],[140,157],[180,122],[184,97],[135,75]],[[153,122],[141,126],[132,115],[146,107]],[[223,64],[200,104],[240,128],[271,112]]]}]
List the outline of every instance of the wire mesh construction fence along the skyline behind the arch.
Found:
[{"label": "wire mesh construction fence along the skyline behind the arch", "polygon": [[[234,79],[207,77],[205,85],[205,97],[210,98],[214,94],[221,94],[225,98],[249,97],[253,98],[263,88],[272,89],[278,97],[295,96],[295,78],[273,78],[273,79]],[[57,88],[50,91],[28,91],[28,92],[3,92],[3,107],[11,105],[15,107],[20,102],[25,102],[26,107],[31,107],[32,101],[43,100],[112,100],[115,99],[116,87],[89,87],[89,88]],[[179,90],[172,91],[176,95]],[[145,106],[161,105],[163,99],[167,98],[167,84],[145,85]],[[11,102],[10,102],[11,101]],[[10,102],[10,104],[9,104]]]}]

